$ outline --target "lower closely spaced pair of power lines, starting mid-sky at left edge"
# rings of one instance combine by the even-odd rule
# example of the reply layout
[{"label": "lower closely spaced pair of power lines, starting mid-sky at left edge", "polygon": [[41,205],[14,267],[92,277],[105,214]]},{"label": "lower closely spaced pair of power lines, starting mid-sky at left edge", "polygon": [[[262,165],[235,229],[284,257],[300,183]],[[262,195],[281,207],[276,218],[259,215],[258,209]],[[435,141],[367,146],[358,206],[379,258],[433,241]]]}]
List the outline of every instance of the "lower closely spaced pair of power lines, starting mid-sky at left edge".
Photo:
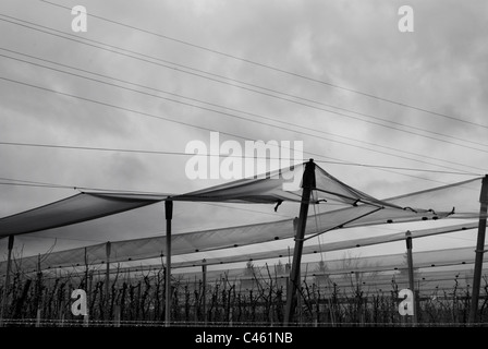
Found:
[{"label": "lower closely spaced pair of power lines, starting mid-sky at left edge", "polygon": [[[82,70],[82,69],[74,68],[74,67],[70,67],[70,65],[66,65],[66,64],[60,64],[60,63],[57,63],[57,62],[53,62],[53,61],[49,61],[49,60],[45,60],[45,59],[40,59],[40,58],[34,57],[34,56],[29,56],[29,55],[24,55],[24,53],[21,53],[21,52],[17,52],[17,51],[13,51],[13,50],[10,50],[10,49],[4,49],[4,48],[0,48],[0,49],[1,49],[1,50],[5,50],[5,51],[9,51],[9,52],[13,52],[13,53],[15,53],[15,55],[21,55],[21,56],[25,56],[25,57],[28,57],[28,58],[33,58],[33,59],[37,59],[37,60],[41,60],[41,61],[46,61],[46,62],[49,62],[49,63],[51,63],[51,64],[61,65],[61,67],[69,68],[69,69],[72,69],[72,70],[78,70],[78,71],[82,71],[82,72],[85,72],[85,73],[88,73],[88,74],[94,74],[94,75],[97,75],[97,76],[102,76],[102,77],[105,77],[105,79],[110,79],[110,80],[119,81],[119,82],[122,82],[122,83],[125,83],[125,84],[131,84],[131,85],[135,85],[135,86],[138,86],[138,87],[143,87],[143,88],[152,89],[152,91],[157,91],[157,92],[160,92],[160,93],[168,94],[168,93],[164,92],[164,91],[160,91],[160,89],[157,89],[157,88],[148,87],[148,86],[145,86],[145,85],[134,84],[134,83],[132,83],[132,82],[127,82],[127,81],[123,81],[123,80],[114,79],[114,77],[112,77],[112,76],[107,76],[107,75],[103,75],[103,74],[94,73],[94,72],[90,72],[90,71],[86,71],[86,70]],[[66,72],[66,71],[62,71],[62,70],[58,70],[58,69],[54,69],[54,68],[51,68],[51,67],[47,67],[47,65],[42,65],[42,64],[38,64],[38,63],[34,63],[34,62],[30,62],[30,61],[25,61],[25,60],[22,60],[22,59],[19,59],[19,58],[13,58],[13,57],[9,57],[9,56],[4,56],[4,55],[0,55],[0,57],[4,57],[4,58],[12,59],[12,60],[16,60],[16,61],[20,61],[20,62],[24,62],[24,63],[28,63],[28,64],[33,64],[33,65],[37,65],[37,67],[41,67],[41,68],[49,69],[49,70],[53,70],[53,71],[57,71],[57,72],[60,72],[60,73],[70,74],[70,75],[73,75],[73,76],[77,76],[77,77],[81,77],[81,79],[85,79],[85,80],[94,81],[94,82],[97,82],[97,83],[107,84],[107,85],[110,85],[110,86],[114,86],[114,87],[123,88],[123,89],[126,89],[126,91],[131,91],[131,92],[135,92],[135,93],[139,93],[139,94],[148,95],[148,96],[151,96],[151,97],[161,98],[161,99],[164,99],[164,100],[168,100],[168,101],[171,101],[171,103],[182,104],[182,105],[185,105],[185,106],[195,107],[195,108],[199,108],[199,109],[203,109],[203,110],[207,110],[207,111],[211,111],[211,112],[220,113],[220,115],[223,115],[223,116],[227,116],[227,117],[237,118],[237,119],[242,119],[242,120],[246,120],[246,121],[251,121],[251,122],[258,122],[260,125],[261,125],[261,124],[266,124],[266,125],[269,125],[269,127],[280,128],[280,129],[283,129],[283,130],[286,130],[286,131],[297,132],[297,133],[305,134],[305,135],[309,135],[309,136],[313,136],[313,137],[318,137],[318,139],[320,139],[320,140],[326,140],[326,141],[330,141],[330,142],[335,142],[335,143],[345,144],[345,145],[353,146],[353,147],[358,147],[358,146],[353,145],[353,144],[350,144],[350,143],[339,142],[339,141],[337,141],[337,140],[330,140],[330,139],[326,139],[326,137],[319,137],[319,136],[317,136],[317,135],[315,135],[315,134],[309,134],[309,133],[305,133],[305,132],[301,132],[301,131],[296,131],[296,130],[291,130],[291,129],[289,129],[289,128],[282,128],[282,127],[278,127],[278,125],[274,125],[274,124],[263,123],[263,122],[260,122],[260,121],[256,121],[256,120],[252,120],[252,119],[248,119],[248,118],[244,118],[244,117],[240,117],[240,116],[231,115],[231,113],[228,113],[228,112],[222,112],[222,111],[220,111],[220,110],[215,110],[215,109],[210,109],[210,108],[205,108],[205,107],[200,107],[200,106],[197,106],[197,105],[194,105],[194,104],[187,104],[187,103],[184,103],[184,101],[181,101],[181,100],[175,100],[175,99],[172,99],[172,98],[167,98],[167,97],[162,97],[162,96],[158,96],[158,95],[148,94],[148,93],[145,93],[145,92],[142,92],[142,91],[137,91],[137,89],[133,89],[133,88],[127,88],[127,87],[120,86],[120,85],[117,85],[117,84],[111,84],[111,83],[108,83],[108,82],[103,82],[103,81],[99,81],[99,80],[96,80],[96,79],[87,77],[87,76],[84,76],[84,75],[80,75],[80,74],[75,74],[75,73],[71,73],[71,72]],[[292,123],[292,122],[284,122],[284,121],[277,120],[277,119],[269,118],[269,117],[258,116],[258,115],[248,113],[248,112],[245,112],[245,111],[242,111],[242,110],[236,110],[236,109],[232,109],[232,108],[227,108],[227,107],[223,107],[223,106],[220,106],[220,105],[216,105],[216,104],[208,104],[208,103],[206,103],[206,101],[202,101],[202,100],[193,99],[193,98],[187,98],[187,97],[185,97],[185,96],[181,96],[181,95],[178,95],[178,94],[171,94],[171,95],[175,95],[175,96],[178,96],[178,97],[185,98],[185,99],[196,100],[196,101],[202,103],[202,104],[211,105],[211,106],[216,106],[216,107],[223,108],[223,109],[231,109],[231,110],[233,110],[233,111],[237,111],[237,112],[242,112],[242,113],[246,113],[246,115],[253,115],[253,116],[255,116],[255,117],[258,117],[258,118],[261,118],[261,119],[265,119],[265,120],[271,120],[271,121],[280,122],[280,123],[283,123],[283,124],[288,124],[288,125],[293,125],[293,127],[302,128],[302,129],[305,129],[305,130],[310,130],[310,131],[315,131],[315,132],[319,132],[319,133],[324,133],[324,134],[330,134],[330,135],[333,135],[333,136],[337,136],[337,137],[341,137],[341,139],[345,139],[345,140],[351,140],[351,141],[354,141],[354,142],[359,142],[359,143],[364,143],[364,144],[368,144],[368,145],[373,145],[373,146],[377,146],[377,147],[381,147],[381,148],[386,148],[386,149],[390,149],[390,151],[394,151],[394,152],[401,152],[401,153],[405,153],[405,154],[410,154],[410,155],[414,155],[414,156],[422,156],[422,157],[424,157],[424,158],[430,158],[430,159],[432,159],[432,160],[444,161],[444,163],[449,163],[449,164],[453,164],[453,165],[459,165],[459,166],[463,166],[463,167],[472,167],[472,166],[464,165],[464,164],[459,164],[459,163],[455,163],[455,161],[450,161],[450,160],[439,159],[439,158],[437,158],[437,157],[430,157],[430,156],[427,156],[427,155],[424,155],[424,154],[417,154],[417,153],[413,153],[413,152],[401,151],[401,149],[396,149],[396,148],[389,147],[389,146],[385,146],[385,145],[378,145],[378,144],[375,144],[375,143],[371,143],[371,142],[365,142],[365,141],[361,141],[361,140],[354,140],[354,139],[346,137],[346,136],[341,136],[341,135],[338,135],[338,134],[334,134],[334,133],[325,132],[325,131],[319,131],[319,130],[315,130],[315,129],[307,128],[307,127],[302,127],[302,125],[298,125],[298,124],[295,124],[295,123]],[[452,144],[457,145],[457,144],[455,144],[455,143],[452,143]],[[359,147],[359,148],[364,148],[364,147]],[[376,152],[376,151],[374,151],[374,149],[369,149],[369,148],[364,148],[364,149],[367,149],[367,151],[370,151],[370,152]],[[389,154],[389,153],[382,153],[382,154]],[[406,158],[406,159],[411,159],[411,158]],[[481,168],[477,168],[477,167],[472,167],[472,168],[474,168],[474,169],[481,169]],[[483,169],[481,169],[481,170],[483,170]]]}]

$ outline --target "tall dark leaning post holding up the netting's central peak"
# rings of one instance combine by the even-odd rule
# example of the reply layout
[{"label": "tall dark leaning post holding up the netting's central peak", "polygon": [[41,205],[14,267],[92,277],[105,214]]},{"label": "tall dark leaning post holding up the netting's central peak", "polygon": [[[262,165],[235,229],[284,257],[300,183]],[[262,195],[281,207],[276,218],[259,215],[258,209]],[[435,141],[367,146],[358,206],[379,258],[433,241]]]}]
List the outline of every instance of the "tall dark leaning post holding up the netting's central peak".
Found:
[{"label": "tall dark leaning post holding up the netting's central peak", "polygon": [[310,194],[312,190],[315,189],[315,164],[314,160],[310,159],[305,165],[305,171],[302,180],[302,204],[300,205],[298,225],[295,232],[295,248],[293,251],[293,265],[290,275],[290,285],[286,291],[284,325],[288,325],[293,321],[293,315],[296,308],[296,292],[301,284],[300,265],[302,263],[303,239],[305,237]]}]

